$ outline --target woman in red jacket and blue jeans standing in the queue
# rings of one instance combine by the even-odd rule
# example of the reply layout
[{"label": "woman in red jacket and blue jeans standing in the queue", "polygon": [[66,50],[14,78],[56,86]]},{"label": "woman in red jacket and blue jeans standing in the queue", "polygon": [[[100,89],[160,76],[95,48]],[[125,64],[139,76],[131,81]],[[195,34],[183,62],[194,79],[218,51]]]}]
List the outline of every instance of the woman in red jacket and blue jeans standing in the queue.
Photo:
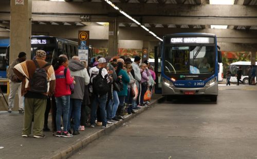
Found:
[{"label": "woman in red jacket and blue jeans standing in the queue", "polygon": [[[54,65],[54,74],[56,75],[56,89],[54,96],[56,97],[56,136],[71,137],[67,132],[68,115],[69,115],[69,96],[71,94],[69,85],[74,83],[74,77],[70,76],[68,69],[69,61],[66,57],[59,57],[58,62]],[[61,116],[63,114],[63,132],[61,133]]]}]

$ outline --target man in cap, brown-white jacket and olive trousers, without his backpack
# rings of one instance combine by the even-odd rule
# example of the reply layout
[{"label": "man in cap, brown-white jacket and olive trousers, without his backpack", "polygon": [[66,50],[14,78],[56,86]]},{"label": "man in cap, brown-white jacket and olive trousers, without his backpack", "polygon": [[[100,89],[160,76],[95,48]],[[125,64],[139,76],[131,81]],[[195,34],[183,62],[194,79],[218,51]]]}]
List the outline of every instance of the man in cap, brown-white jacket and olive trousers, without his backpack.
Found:
[{"label": "man in cap, brown-white jacket and olive trousers, without his backpack", "polygon": [[54,75],[53,67],[52,65],[46,66],[47,62],[45,62],[45,59],[46,52],[44,50],[36,50],[35,61],[38,63],[39,67],[45,66],[44,69],[46,70],[48,82],[47,92],[38,93],[30,90],[30,79],[32,79],[36,70],[36,65],[33,60],[28,60],[14,66],[14,73],[17,78],[22,81],[22,95],[25,97],[22,137],[28,137],[28,135],[31,134],[32,118],[34,118],[33,137],[45,137],[43,134],[43,126],[47,96],[54,93],[56,86],[56,76]]}]

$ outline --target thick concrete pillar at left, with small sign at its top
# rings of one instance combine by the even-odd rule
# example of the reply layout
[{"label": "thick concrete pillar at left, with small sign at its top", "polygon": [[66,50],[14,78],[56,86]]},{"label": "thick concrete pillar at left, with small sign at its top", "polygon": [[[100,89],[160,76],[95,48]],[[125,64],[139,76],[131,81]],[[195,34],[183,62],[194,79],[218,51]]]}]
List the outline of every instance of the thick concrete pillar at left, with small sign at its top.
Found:
[{"label": "thick concrete pillar at left, with small sign at its top", "polygon": [[[16,59],[20,52],[31,54],[31,12],[32,0],[24,1],[24,4],[17,4],[19,1],[11,0],[11,24],[10,24],[10,63]],[[22,1],[20,1],[21,3]],[[16,4],[15,4],[16,3]]]}]

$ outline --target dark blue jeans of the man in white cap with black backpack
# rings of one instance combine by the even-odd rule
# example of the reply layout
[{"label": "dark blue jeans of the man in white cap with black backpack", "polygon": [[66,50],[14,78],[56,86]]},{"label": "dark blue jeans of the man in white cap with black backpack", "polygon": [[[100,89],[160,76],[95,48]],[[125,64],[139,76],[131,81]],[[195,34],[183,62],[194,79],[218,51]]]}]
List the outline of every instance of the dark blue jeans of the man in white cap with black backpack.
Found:
[{"label": "dark blue jeans of the man in white cap with black backpack", "polygon": [[103,126],[106,126],[107,124],[107,119],[106,119],[106,110],[105,110],[105,106],[106,106],[106,102],[107,102],[107,94],[98,96],[95,95],[94,96],[94,101],[91,105],[91,117],[90,117],[90,124],[91,125],[95,125],[95,121],[96,121],[96,117],[97,117],[97,106],[99,106],[99,110],[100,110],[100,115],[102,118],[102,122],[103,122]]}]

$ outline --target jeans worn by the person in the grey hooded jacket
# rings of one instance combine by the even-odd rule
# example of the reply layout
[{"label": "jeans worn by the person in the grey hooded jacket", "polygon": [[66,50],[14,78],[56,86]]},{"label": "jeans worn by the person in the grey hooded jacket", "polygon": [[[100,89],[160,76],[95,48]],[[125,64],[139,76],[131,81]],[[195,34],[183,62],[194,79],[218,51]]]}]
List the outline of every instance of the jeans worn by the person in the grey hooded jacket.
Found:
[{"label": "jeans worn by the person in the grey hooded jacket", "polygon": [[70,103],[69,103],[69,120],[68,120],[68,128],[67,130],[70,129],[70,119],[71,117],[74,118],[74,131],[79,131],[80,127],[80,113],[81,113],[81,104],[82,100],[79,99],[74,99],[70,98]]}]

